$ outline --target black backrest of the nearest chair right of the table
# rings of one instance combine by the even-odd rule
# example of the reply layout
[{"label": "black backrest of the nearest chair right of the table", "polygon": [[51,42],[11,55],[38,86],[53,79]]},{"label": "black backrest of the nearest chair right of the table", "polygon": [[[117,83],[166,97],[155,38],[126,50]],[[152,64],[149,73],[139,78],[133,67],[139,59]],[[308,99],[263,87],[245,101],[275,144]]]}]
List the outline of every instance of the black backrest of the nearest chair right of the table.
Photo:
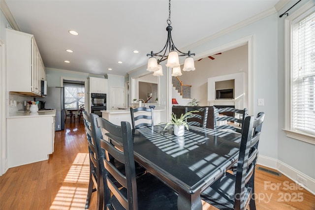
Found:
[{"label": "black backrest of the nearest chair right of the table", "polygon": [[244,120],[235,180],[235,209],[246,209],[251,199],[251,196],[245,198],[245,195],[246,190],[253,188],[257,147],[264,117],[264,113],[258,113],[257,118],[248,116]]}]

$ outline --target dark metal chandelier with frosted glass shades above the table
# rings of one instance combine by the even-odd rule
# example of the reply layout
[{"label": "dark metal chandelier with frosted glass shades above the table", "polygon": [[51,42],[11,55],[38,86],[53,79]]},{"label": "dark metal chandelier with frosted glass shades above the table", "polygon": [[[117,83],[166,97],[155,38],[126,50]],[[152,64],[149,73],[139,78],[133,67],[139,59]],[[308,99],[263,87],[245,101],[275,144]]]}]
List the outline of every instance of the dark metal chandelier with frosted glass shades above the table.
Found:
[{"label": "dark metal chandelier with frosted glass shades above the table", "polygon": [[[151,53],[147,54],[147,56],[151,56],[148,60],[147,71],[153,72],[154,76],[163,76],[162,65],[159,63],[162,62],[163,60],[167,60],[167,63],[165,65],[167,67],[172,68],[172,76],[173,77],[181,76],[182,72],[181,72],[181,67],[179,63],[179,56],[188,56],[185,59],[183,71],[194,71],[195,65],[194,65],[193,58],[191,56],[194,56],[195,54],[190,53],[190,51],[188,51],[188,53],[181,52],[180,50],[176,48],[172,39],[171,31],[173,28],[171,27],[171,23],[172,23],[171,22],[171,0],[168,1],[168,19],[166,20],[166,23],[168,25],[166,27],[166,31],[167,31],[166,44],[163,47],[163,49],[159,51],[158,53],[154,53],[153,51],[151,51]],[[166,55],[167,50],[169,52],[168,55]],[[155,57],[161,57],[161,58],[157,60]]]}]

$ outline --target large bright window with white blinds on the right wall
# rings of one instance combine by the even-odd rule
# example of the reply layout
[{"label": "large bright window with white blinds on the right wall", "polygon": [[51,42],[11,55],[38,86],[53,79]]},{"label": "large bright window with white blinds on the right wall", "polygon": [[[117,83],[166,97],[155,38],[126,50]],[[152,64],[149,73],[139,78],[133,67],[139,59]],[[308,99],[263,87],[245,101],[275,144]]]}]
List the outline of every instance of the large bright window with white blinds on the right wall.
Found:
[{"label": "large bright window with white blinds on the right wall", "polygon": [[315,144],[315,7],[286,20],[287,136]]}]

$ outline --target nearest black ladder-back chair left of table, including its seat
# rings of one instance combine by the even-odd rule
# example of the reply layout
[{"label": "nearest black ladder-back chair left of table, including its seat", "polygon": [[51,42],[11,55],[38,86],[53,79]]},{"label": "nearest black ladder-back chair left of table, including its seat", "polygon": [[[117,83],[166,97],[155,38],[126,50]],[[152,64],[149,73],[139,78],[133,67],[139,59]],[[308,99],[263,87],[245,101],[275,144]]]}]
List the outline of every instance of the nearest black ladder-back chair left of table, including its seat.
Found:
[{"label": "nearest black ladder-back chair left of table, including its seat", "polygon": [[[101,148],[124,164],[126,172],[122,174],[110,161],[102,159],[102,175],[106,181],[104,205],[107,210],[177,210],[178,195],[175,191],[150,173],[136,179],[130,123],[122,121],[121,126],[118,126],[98,118],[97,125],[108,132],[105,133],[108,138],[122,140],[123,143],[123,150],[118,150],[110,142],[100,140]],[[110,176],[123,187],[117,188]]]}]

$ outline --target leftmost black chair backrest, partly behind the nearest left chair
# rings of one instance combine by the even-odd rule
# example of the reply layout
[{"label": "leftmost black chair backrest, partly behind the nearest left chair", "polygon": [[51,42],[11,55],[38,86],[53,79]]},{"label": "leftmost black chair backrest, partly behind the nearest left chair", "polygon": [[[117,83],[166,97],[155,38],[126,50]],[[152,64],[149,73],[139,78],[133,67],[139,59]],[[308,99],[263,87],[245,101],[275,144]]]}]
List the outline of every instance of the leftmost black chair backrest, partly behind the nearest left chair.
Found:
[{"label": "leftmost black chair backrest, partly behind the nearest left chair", "polygon": [[[97,141],[95,135],[102,135],[101,129],[95,126],[96,119],[99,118],[95,114],[89,115],[83,110],[84,126],[88,140],[89,156],[90,156],[90,179],[93,180],[95,188],[97,190],[97,204],[100,209],[103,207],[103,180],[101,173],[101,163],[99,161],[99,156],[104,156],[104,151],[100,149],[100,143]],[[91,181],[91,180],[90,180]]]}]

